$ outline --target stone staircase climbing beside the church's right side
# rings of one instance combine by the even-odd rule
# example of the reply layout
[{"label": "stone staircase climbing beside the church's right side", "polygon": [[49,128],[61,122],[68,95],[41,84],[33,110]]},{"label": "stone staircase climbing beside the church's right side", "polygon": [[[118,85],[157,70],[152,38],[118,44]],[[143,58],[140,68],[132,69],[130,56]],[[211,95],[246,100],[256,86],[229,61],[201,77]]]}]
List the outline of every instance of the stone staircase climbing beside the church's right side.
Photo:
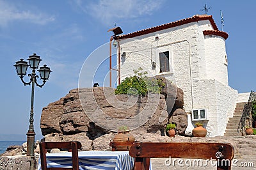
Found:
[{"label": "stone staircase climbing beside the church's right side", "polygon": [[229,118],[227,127],[225,130],[225,136],[236,136],[236,135],[241,135],[241,132],[237,133],[237,128],[239,125],[239,121],[241,119],[243,109],[244,109],[244,104],[246,103],[237,103],[236,104],[236,109],[234,112],[234,115],[232,118]]}]

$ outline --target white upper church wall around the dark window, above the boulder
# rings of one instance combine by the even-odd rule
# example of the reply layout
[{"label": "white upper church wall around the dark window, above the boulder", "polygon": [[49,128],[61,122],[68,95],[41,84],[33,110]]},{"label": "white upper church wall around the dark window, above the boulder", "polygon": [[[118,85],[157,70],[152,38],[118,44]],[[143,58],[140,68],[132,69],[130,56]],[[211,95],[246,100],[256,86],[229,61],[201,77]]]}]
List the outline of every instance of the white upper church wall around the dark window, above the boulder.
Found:
[{"label": "white upper church wall around the dark window, above the boulder", "polygon": [[[209,21],[208,21],[209,23]],[[126,57],[121,63],[121,80],[128,75],[134,75],[133,69],[138,66],[148,72],[148,75],[164,75],[167,79],[177,84],[184,92],[184,108],[191,110],[192,95],[191,84],[202,78],[206,73],[204,66],[198,62],[202,56],[198,54],[198,24],[194,22],[183,26],[165,29],[147,36],[138,36],[138,40],[129,39],[120,41],[121,54]],[[207,24],[208,27],[208,24]],[[159,40],[155,40],[158,36]],[[201,35],[201,38],[204,38]],[[203,40],[201,40],[203,42]],[[170,72],[159,73],[159,52],[169,50]],[[156,62],[156,69],[152,69],[152,61]]]}]

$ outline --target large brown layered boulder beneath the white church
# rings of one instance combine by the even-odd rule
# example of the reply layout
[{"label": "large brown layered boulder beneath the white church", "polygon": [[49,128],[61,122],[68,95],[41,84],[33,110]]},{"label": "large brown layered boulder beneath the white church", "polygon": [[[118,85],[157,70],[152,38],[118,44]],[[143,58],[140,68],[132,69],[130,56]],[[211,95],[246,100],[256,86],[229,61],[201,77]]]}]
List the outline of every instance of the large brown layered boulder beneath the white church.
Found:
[{"label": "large brown layered boulder beneath the white church", "polygon": [[168,141],[164,133],[168,118],[177,120],[182,128],[177,132],[184,134],[186,112],[173,114],[183,104],[182,89],[171,83],[161,94],[146,97],[115,95],[113,88],[72,89],[43,108],[42,135],[45,141],[80,141],[83,150],[104,150],[117,128],[127,125],[137,141]]}]

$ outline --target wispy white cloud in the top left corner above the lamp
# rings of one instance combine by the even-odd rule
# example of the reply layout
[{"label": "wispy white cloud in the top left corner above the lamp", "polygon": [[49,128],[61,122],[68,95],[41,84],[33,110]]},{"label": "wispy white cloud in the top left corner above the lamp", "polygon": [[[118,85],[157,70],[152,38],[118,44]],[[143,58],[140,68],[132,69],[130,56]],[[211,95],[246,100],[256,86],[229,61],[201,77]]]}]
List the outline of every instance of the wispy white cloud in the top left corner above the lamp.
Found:
[{"label": "wispy white cloud in the top left corner above the lamp", "polygon": [[38,10],[35,13],[30,10],[19,9],[14,4],[0,0],[0,26],[7,26],[10,22],[17,20],[26,20],[34,24],[44,25],[55,19],[53,16],[38,12]]}]

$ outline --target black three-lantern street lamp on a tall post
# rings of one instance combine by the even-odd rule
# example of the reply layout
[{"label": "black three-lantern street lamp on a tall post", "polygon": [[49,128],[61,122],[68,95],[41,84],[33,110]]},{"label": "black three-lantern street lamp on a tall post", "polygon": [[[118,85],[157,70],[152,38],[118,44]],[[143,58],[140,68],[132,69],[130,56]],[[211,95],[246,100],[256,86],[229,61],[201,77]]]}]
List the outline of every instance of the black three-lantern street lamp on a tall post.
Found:
[{"label": "black three-lantern street lamp on a tall post", "polygon": [[[43,81],[43,83],[38,84],[38,82],[36,81],[38,79],[38,75],[36,75],[36,70],[38,69],[39,63],[40,61],[42,61],[42,59],[40,59],[40,56],[36,56],[36,54],[34,53],[32,56],[29,56],[28,61],[29,61],[29,65],[27,61],[24,61],[24,59],[20,59],[20,61],[17,61],[14,66],[16,68],[17,75],[19,75],[20,80],[23,82],[24,86],[30,85],[32,83],[29,129],[27,133],[27,155],[31,157],[30,169],[32,170],[32,169],[35,169],[35,154],[34,154],[35,130],[33,125],[35,84],[36,86],[42,88],[45,82],[49,79],[49,75],[52,71],[46,65],[40,67],[38,72],[40,73],[40,79]],[[25,82],[23,80],[23,77],[26,75],[28,66],[32,69],[32,73],[28,74],[28,76],[30,77],[30,81]]]}]

